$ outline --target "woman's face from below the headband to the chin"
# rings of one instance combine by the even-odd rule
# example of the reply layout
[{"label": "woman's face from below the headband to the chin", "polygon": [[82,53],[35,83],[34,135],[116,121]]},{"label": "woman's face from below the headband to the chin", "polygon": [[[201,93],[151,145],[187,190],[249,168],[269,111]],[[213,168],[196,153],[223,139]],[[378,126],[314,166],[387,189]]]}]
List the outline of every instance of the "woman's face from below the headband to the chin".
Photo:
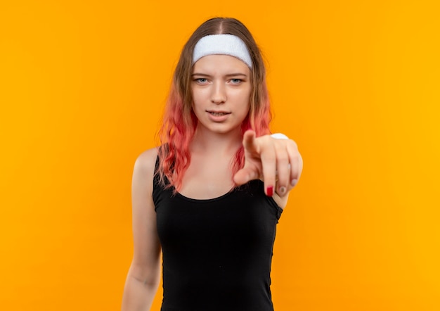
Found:
[{"label": "woman's face from below the headband to the chin", "polygon": [[240,129],[250,109],[250,73],[233,56],[209,55],[195,62],[191,91],[198,130],[226,134]]}]

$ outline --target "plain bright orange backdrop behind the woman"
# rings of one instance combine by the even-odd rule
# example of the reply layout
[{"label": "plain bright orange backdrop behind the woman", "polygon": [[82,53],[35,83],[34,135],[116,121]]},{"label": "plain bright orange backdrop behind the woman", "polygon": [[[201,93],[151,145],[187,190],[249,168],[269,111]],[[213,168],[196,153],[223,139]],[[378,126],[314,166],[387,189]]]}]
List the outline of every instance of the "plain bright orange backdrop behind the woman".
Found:
[{"label": "plain bright orange backdrop behind the woman", "polygon": [[134,160],[183,43],[216,15],[259,42],[273,132],[304,157],[276,310],[440,310],[437,3],[3,1],[1,310],[119,310]]}]

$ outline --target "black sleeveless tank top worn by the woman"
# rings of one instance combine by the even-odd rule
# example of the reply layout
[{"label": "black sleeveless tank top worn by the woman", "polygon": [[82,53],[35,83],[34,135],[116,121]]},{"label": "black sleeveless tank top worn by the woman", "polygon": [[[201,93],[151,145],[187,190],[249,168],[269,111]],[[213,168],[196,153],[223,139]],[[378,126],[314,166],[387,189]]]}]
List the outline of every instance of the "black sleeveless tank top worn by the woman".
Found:
[{"label": "black sleeveless tank top worn by the woman", "polygon": [[162,311],[273,311],[271,260],[283,211],[254,180],[208,200],[164,189],[153,201],[163,253]]}]

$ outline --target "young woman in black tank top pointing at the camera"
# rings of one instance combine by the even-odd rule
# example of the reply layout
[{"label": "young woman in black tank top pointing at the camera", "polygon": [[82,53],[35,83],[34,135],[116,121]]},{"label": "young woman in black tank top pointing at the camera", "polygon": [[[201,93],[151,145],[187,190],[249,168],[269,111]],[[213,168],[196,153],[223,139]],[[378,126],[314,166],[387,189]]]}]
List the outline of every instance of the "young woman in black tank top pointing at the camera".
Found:
[{"label": "young woman in black tank top pointing at the camera", "polygon": [[134,258],[122,310],[273,310],[276,224],[302,171],[294,141],[270,135],[261,53],[233,18],[183,47],[161,129],[132,183]]}]

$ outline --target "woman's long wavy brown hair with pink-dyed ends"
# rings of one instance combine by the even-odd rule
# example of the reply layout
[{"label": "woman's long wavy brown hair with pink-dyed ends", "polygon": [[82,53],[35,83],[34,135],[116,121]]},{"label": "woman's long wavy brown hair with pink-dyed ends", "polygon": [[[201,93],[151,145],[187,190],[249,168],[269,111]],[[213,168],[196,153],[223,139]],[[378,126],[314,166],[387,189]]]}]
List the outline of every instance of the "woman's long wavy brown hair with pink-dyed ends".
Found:
[{"label": "woman's long wavy brown hair with pink-dyed ends", "polygon": [[[174,192],[181,189],[183,174],[190,165],[189,146],[192,141],[198,119],[193,112],[193,97],[190,90],[193,70],[194,46],[209,34],[234,34],[242,39],[247,46],[252,59],[250,110],[242,122],[242,134],[247,129],[253,129],[257,137],[268,134],[268,124],[271,120],[268,91],[266,87],[266,69],[264,68],[261,52],[249,30],[235,18],[212,18],[202,23],[183,46],[179,63],[174,71],[172,87],[164,111],[164,120],[159,131],[159,167],[156,174],[160,182],[169,188],[174,186]],[[241,147],[235,153],[231,163],[233,174],[244,165],[244,149]]]}]

